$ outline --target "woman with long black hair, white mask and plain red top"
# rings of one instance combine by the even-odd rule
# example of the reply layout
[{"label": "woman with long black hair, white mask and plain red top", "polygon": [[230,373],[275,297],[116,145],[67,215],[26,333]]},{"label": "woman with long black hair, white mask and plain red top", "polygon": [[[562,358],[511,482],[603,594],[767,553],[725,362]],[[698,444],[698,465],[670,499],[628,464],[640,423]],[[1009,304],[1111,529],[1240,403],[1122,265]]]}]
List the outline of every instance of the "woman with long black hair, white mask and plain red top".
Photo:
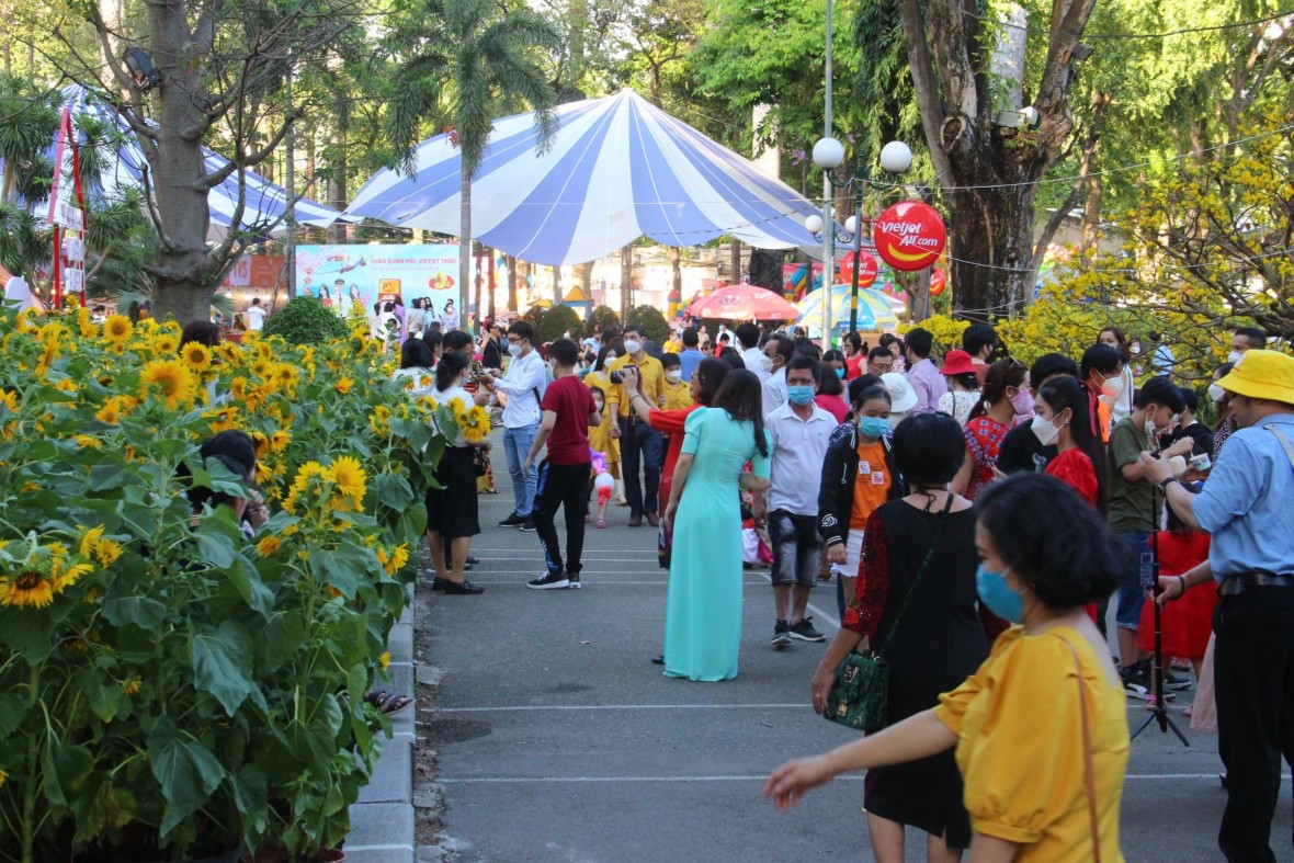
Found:
[{"label": "woman with long black hair, white mask and plain red top", "polygon": [[1093,507],[1105,512],[1105,454],[1092,435],[1087,415],[1087,393],[1074,378],[1052,378],[1038,391],[1036,415],[1031,428],[1043,446],[1056,445],[1058,453],[1047,464],[1055,476]]}]

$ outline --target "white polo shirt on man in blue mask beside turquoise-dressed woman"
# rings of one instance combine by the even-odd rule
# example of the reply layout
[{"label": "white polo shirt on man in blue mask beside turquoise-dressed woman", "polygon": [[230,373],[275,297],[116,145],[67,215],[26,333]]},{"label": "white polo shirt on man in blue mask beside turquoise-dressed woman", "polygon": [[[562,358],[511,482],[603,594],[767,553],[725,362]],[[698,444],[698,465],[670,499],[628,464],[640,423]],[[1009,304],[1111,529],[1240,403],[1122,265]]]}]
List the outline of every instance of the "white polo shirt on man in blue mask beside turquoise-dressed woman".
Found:
[{"label": "white polo shirt on man in blue mask beside turquoise-dressed woman", "polygon": [[765,428],[773,437],[773,471],[769,476],[769,512],[818,515],[818,486],[827,441],[836,431],[836,418],[818,405],[809,419],[787,402],[769,414]]}]

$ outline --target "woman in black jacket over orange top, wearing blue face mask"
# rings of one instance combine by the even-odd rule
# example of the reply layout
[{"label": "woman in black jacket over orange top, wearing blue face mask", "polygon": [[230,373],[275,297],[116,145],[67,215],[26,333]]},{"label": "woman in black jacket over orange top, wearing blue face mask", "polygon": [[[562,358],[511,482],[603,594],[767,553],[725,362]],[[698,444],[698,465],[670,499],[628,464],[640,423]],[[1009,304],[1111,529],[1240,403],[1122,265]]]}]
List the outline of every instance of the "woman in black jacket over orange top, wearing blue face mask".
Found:
[{"label": "woman in black jacket over orange top, wearing blue face mask", "polygon": [[903,474],[890,452],[890,395],[884,386],[859,387],[854,421],[831,433],[818,485],[818,533],[832,572],[841,617],[863,550],[863,528],[885,501],[907,494]]}]

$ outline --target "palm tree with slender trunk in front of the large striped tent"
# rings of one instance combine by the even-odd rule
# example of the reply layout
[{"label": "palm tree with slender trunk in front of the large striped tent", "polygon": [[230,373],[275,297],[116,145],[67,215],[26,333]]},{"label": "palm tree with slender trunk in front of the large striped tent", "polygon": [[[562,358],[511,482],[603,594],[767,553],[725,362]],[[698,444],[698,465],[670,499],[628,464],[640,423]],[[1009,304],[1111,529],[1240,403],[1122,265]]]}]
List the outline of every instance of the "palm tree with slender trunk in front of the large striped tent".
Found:
[{"label": "palm tree with slender trunk in front of the large striped tent", "polygon": [[[540,146],[554,133],[554,89],[540,63],[560,36],[525,5],[506,9],[493,0],[422,0],[415,3],[405,44],[413,53],[396,70],[387,136],[406,173],[415,168],[414,146],[424,120],[453,126],[462,153],[458,241],[458,308],[470,303],[472,260],[472,177],[493,129],[498,105],[514,101],[534,111]],[[428,23],[439,32],[428,34]],[[477,309],[479,317],[480,309]]]}]

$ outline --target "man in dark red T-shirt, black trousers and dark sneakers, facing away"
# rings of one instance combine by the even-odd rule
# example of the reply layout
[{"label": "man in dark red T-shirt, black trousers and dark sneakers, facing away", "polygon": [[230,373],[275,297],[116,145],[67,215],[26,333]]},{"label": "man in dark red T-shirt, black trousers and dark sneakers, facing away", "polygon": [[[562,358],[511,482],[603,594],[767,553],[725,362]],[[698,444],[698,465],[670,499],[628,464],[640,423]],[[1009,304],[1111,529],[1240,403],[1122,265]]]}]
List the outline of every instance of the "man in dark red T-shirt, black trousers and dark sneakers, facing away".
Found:
[{"label": "man in dark red T-shirt, black trousers and dark sneakers, facing away", "polygon": [[[575,371],[580,347],[571,339],[558,339],[549,345],[549,357],[554,362],[554,379],[540,402],[540,431],[531,444],[523,471],[531,472],[531,466],[546,442],[549,453],[540,464],[532,515],[540,545],[543,546],[547,572],[527,582],[525,586],[534,590],[580,586],[580,555],[584,552],[584,520],[589,515],[589,475],[593,470],[589,426],[602,422],[593,392]],[[562,564],[558,529],[553,523],[559,506],[565,507],[567,518],[565,565]]]}]

